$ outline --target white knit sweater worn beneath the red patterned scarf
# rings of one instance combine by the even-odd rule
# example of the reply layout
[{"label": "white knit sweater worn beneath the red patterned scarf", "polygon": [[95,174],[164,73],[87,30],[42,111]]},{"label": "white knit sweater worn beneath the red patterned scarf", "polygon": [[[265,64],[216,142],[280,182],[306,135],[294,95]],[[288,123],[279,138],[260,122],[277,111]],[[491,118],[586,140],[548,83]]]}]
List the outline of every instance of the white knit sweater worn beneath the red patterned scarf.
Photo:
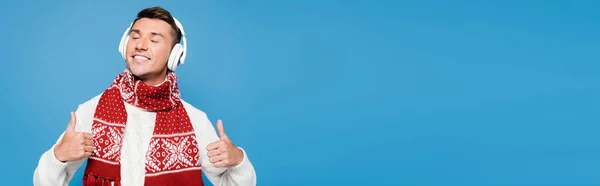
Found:
[{"label": "white knit sweater worn beneath the red patterned scarf", "polygon": [[[75,112],[77,132],[91,133],[92,121],[96,105],[100,100],[98,95],[79,105]],[[198,146],[200,147],[200,161],[202,172],[215,186],[221,185],[256,185],[256,172],[244,151],[242,163],[231,168],[215,168],[208,161],[206,146],[218,141],[219,137],[210,120],[204,112],[181,100],[194,127]],[[123,134],[121,151],[121,185],[144,185],[145,163],[144,157],[148,149],[150,138],[154,130],[155,112],[149,112],[125,103],[127,110],[127,124]],[[66,123],[66,122],[65,122]],[[58,138],[58,143],[64,133]],[[54,156],[54,144],[39,160],[33,176],[34,185],[68,185],[73,174],[81,167],[84,160],[62,163]],[[241,149],[241,148],[240,148]],[[201,175],[198,175],[201,176]],[[82,182],[82,180],[73,180]]]}]

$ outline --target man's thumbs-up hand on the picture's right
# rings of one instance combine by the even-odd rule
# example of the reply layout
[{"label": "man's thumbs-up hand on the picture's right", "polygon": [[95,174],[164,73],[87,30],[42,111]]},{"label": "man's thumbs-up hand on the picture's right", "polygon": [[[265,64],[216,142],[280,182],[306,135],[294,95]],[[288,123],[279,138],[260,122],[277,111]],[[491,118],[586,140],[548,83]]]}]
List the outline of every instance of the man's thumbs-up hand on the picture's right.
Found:
[{"label": "man's thumbs-up hand on the picture's right", "polygon": [[233,145],[233,142],[227,137],[221,120],[217,121],[217,131],[219,133],[219,141],[206,146],[210,163],[215,167],[233,167],[240,164],[244,160],[244,153],[241,149]]}]

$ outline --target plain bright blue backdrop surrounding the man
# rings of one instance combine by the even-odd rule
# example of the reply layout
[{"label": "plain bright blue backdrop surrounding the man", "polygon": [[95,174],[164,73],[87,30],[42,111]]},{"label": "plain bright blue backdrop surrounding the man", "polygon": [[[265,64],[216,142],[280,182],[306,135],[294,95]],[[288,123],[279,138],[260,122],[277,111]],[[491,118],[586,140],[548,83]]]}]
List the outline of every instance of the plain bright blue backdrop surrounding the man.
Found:
[{"label": "plain bright blue backdrop surrounding the man", "polygon": [[32,184],[160,5],[188,34],[183,98],[258,185],[600,185],[597,1],[3,4],[3,184]]}]

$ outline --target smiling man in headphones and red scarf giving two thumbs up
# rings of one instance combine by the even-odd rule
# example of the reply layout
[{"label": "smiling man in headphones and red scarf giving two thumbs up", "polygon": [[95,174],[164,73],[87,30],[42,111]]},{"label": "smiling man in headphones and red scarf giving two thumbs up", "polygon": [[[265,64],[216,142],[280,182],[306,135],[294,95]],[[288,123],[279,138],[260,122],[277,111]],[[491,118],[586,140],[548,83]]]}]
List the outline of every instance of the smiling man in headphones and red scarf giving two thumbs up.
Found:
[{"label": "smiling man in headphones and red scarf giving two thumbs up", "polygon": [[[183,39],[183,45],[179,43]],[[83,185],[256,185],[243,149],[206,114],[179,97],[173,72],[185,58],[185,32],[160,7],[140,11],[119,50],[127,68],[100,95],[71,112],[46,151],[34,185],[68,185],[87,160]]]}]

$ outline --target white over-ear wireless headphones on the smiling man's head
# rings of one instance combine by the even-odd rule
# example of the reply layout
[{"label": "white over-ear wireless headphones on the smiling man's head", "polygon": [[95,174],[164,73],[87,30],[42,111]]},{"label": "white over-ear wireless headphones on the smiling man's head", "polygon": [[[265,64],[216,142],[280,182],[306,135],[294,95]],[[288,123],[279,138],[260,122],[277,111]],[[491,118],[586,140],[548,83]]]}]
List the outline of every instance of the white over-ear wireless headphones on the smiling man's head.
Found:
[{"label": "white over-ear wireless headphones on the smiling man's head", "polygon": [[[173,19],[175,20],[175,25],[177,25],[177,28],[179,28],[179,31],[181,32],[182,43],[175,44],[175,46],[171,50],[171,54],[169,55],[167,67],[171,71],[175,71],[179,64],[183,64],[183,62],[185,61],[185,54],[187,53],[187,42],[185,40],[185,32],[183,31],[183,25],[181,25],[181,23],[177,19]],[[131,23],[127,30],[125,30],[125,33],[123,33],[123,37],[121,38],[121,43],[119,43],[119,52],[121,52],[123,59],[127,59],[127,42],[129,41],[129,34],[132,26],[133,23]]]}]

